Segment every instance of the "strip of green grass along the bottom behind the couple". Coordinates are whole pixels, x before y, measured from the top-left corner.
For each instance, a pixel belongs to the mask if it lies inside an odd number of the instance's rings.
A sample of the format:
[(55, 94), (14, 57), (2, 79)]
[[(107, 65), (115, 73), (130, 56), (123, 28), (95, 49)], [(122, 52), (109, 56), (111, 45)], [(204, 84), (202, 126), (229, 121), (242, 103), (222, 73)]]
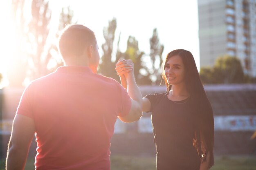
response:
[[(155, 157), (112, 155), (111, 170), (155, 170)], [(4, 170), (4, 160), (0, 161)], [(28, 159), (25, 170), (34, 170), (34, 160)], [(217, 156), (211, 170), (256, 170), (256, 156)]]

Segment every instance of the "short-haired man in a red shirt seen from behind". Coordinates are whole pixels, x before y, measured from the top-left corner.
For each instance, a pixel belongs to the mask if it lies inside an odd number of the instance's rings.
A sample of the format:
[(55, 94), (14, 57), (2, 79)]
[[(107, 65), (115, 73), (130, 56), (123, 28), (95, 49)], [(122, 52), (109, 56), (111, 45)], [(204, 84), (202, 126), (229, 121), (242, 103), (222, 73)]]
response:
[(96, 73), (99, 48), (87, 27), (67, 26), (58, 47), (65, 66), (31, 82), (22, 94), (6, 169), (24, 169), (36, 134), (36, 170), (110, 170), (115, 121), (141, 117), (141, 93), (132, 87), (135, 82), (129, 82), (128, 94), (114, 79)]

